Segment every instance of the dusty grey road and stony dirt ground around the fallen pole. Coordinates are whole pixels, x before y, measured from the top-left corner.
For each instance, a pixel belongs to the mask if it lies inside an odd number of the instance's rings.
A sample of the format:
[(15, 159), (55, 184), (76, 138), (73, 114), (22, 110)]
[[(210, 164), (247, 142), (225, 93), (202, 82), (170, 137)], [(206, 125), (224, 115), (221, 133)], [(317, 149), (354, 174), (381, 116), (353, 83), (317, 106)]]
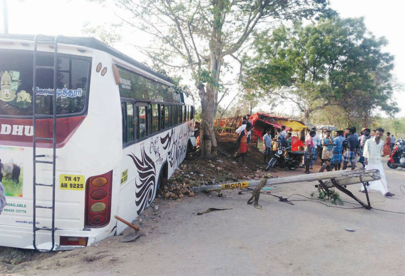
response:
[[(205, 172), (213, 170), (223, 175), (225, 172), (221, 170), (225, 170), (226, 174), (232, 174), (230, 178), (264, 174), (255, 166), (244, 168), (234, 163), (232, 170), (225, 167), (231, 164), (223, 165), (225, 158), (222, 159), (222, 162), (208, 161)], [(195, 170), (193, 166), (197, 166), (194, 162), (187, 161), (186, 167), (175, 176), (178, 179), (172, 180), (168, 188), (178, 184), (174, 181), (180, 182), (181, 175), (189, 176)], [(216, 170), (219, 166), (221, 169)], [(314, 169), (317, 168), (319, 163)], [(389, 189), (396, 196), (386, 199), (373, 191), (371, 204), (378, 209), (404, 212), (405, 195), (400, 185), (404, 184), (405, 172), (388, 168), (385, 172)], [(193, 175), (200, 174), (204, 172)], [(293, 172), (277, 169), (271, 174), (279, 177), (303, 174), (303, 169)], [(195, 181), (204, 184), (209, 181), (205, 176)], [(226, 190), (222, 197), (210, 192), (195, 197), (157, 199), (134, 222), (146, 234), (136, 241), (119, 242), (122, 236), (115, 236), (84, 249), (51, 254), (0, 247), (0, 254), (8, 256), (0, 262), (0, 274), (402, 275), (405, 215), (358, 208), (344, 194), (341, 199), (347, 202), (343, 206), (302, 197), (310, 197), (311, 192), (317, 191), (314, 184), (272, 186), (272, 195), (289, 197), (293, 205), (261, 195), (263, 210), (246, 204), (251, 195), (248, 191), (239, 195), (238, 190)], [(349, 189), (365, 201), (358, 185)], [(197, 215), (210, 207), (232, 209)], [(123, 235), (133, 231), (126, 229)]]

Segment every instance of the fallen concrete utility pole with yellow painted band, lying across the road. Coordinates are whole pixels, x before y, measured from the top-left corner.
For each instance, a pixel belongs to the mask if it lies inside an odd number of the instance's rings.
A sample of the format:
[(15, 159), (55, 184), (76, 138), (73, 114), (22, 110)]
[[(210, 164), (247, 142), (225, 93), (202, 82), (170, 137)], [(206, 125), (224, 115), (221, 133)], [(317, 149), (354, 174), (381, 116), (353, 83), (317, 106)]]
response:
[[(278, 178), (269, 178), (266, 181), (265, 185), (277, 185), (277, 184), (287, 184), (287, 183), (297, 183), (297, 182), (311, 182), (316, 180), (324, 180), (324, 179), (342, 179), (342, 178), (353, 178), (357, 179), (347, 181), (348, 182), (355, 182), (350, 184), (362, 183), (367, 182), (370, 180), (367, 177), (372, 175), (372, 180), (378, 180), (381, 178), (379, 175), (378, 170), (344, 170), (344, 171), (333, 171), (333, 172), (325, 172), (325, 173), (314, 173), (314, 174), (303, 174), (303, 175), (295, 175), (295, 176), (287, 176), (287, 177), (278, 177)], [(363, 180), (363, 181), (362, 181)], [(192, 191), (209, 191), (209, 190), (222, 190), (222, 189), (235, 189), (235, 188), (246, 188), (246, 187), (254, 187), (260, 184), (261, 180), (245, 180), (241, 182), (232, 182), (232, 183), (225, 183), (225, 184), (214, 184), (214, 185), (207, 185), (207, 186), (199, 186), (191, 188)], [(345, 180), (346, 181), (346, 180)], [(333, 184), (332, 184), (333, 185)], [(342, 184), (342, 185), (349, 185), (349, 184)]]

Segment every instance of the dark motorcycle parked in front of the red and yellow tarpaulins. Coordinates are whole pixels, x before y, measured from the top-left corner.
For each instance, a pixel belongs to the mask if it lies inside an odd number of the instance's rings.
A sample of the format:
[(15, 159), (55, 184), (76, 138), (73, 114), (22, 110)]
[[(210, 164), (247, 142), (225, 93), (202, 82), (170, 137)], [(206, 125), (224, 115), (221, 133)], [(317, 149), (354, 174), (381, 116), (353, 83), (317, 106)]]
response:
[(302, 156), (305, 154), (305, 151), (287, 151), (287, 156), (284, 157), (285, 152), (286, 148), (280, 147), (267, 163), (266, 171), (274, 168), (276, 165), (280, 168), (287, 167), (290, 170), (297, 169), (302, 162)]

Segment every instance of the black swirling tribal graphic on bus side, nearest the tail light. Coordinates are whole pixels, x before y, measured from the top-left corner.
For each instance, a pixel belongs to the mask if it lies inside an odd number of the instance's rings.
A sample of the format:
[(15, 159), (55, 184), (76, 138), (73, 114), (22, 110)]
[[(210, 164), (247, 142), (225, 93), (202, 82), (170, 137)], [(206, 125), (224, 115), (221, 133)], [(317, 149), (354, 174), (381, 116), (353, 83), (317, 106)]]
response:
[(134, 161), (139, 174), (135, 179), (135, 203), (139, 207), (137, 210), (139, 215), (154, 199), (156, 168), (154, 161), (146, 154), (144, 147), (141, 150), (141, 159), (136, 157), (134, 153), (128, 154), (128, 156)]

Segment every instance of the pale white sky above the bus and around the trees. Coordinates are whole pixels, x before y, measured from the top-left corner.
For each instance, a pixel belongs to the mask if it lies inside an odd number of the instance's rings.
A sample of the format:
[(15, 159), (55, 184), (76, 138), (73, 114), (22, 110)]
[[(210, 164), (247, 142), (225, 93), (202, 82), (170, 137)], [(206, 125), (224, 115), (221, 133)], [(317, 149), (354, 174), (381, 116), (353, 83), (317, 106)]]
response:
[[(3, 0), (0, 0), (3, 2)], [(83, 36), (86, 23), (102, 25), (120, 23), (113, 8), (103, 8), (97, 3), (86, 0), (7, 0), (8, 25), (10, 34), (47, 34)], [(389, 45), (386, 51), (395, 56), (394, 75), (405, 84), (405, 1), (402, 0), (331, 0), (331, 7), (341, 17), (364, 17), (365, 24), (376, 37), (385, 36)], [(0, 32), (4, 28), (3, 5), (0, 4)], [(118, 50), (142, 62), (145, 57), (140, 55), (129, 43), (131, 38), (142, 37), (123, 29), (122, 42), (114, 45)], [(402, 110), (397, 117), (405, 116), (405, 93), (396, 91), (394, 94)], [(222, 105), (227, 105), (233, 95), (224, 98)], [(259, 106), (261, 108), (263, 106)], [(275, 112), (297, 112), (296, 106), (290, 103), (281, 105)], [(297, 115), (297, 114), (295, 114)]]

